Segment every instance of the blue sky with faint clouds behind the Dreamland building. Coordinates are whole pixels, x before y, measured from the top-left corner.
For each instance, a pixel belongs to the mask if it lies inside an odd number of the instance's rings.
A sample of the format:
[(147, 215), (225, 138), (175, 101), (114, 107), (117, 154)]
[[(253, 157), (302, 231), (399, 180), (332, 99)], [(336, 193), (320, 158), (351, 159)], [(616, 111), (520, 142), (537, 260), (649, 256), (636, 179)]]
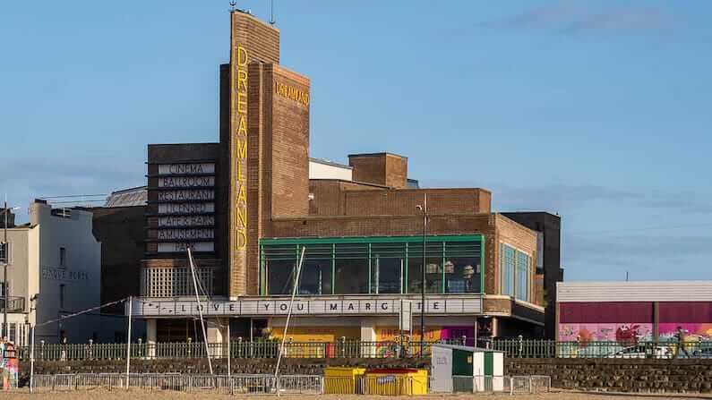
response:
[[(267, 0), (239, 1), (269, 19)], [(0, 193), (145, 184), (218, 141), (227, 1), (7, 2)], [(712, 2), (275, 0), (311, 156), (390, 151), (425, 187), (562, 217), (566, 280), (712, 279)]]

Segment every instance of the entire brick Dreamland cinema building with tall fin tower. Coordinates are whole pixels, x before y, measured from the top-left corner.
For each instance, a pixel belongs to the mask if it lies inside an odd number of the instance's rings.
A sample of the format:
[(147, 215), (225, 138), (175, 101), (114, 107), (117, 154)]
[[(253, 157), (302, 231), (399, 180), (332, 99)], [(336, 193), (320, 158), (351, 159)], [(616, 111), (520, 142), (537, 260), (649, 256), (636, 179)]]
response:
[(493, 213), (485, 189), (418, 188), (406, 157), (310, 159), (310, 81), (279, 64), (279, 30), (231, 13), (230, 55), (219, 142), (148, 148), (132, 311), (149, 342), (202, 337), (188, 248), (211, 342), (227, 339), (228, 324), (235, 340), (282, 335), (302, 249), (295, 341), (398, 336), (401, 304), (419, 320), (422, 268), (428, 339), (543, 331), (540, 234)]

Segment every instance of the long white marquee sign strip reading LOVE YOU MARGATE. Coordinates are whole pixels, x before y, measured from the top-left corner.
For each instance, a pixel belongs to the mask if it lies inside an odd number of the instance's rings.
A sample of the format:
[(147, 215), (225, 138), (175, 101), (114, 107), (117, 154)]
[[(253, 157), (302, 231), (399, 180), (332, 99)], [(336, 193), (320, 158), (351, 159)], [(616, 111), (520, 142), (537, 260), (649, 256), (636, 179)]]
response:
[[(421, 311), (419, 300), (411, 300), (413, 313)], [(426, 314), (478, 314), (482, 312), (481, 296), (434, 297), (426, 300)], [(398, 315), (400, 299), (379, 299), (365, 297), (360, 299), (308, 299), (295, 300), (292, 313), (295, 315)], [(245, 299), (235, 302), (201, 302), (204, 315), (230, 316), (279, 316), (287, 315), (289, 299)], [(198, 304), (191, 301), (142, 300), (133, 301), (133, 313), (136, 316), (187, 316), (198, 314)]]

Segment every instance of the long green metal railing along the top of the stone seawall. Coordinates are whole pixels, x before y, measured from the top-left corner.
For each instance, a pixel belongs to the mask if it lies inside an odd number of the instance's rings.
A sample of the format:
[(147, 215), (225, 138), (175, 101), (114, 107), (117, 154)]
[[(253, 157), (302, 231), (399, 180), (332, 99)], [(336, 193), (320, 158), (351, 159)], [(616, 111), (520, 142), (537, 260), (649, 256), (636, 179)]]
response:
[[(284, 356), (288, 358), (418, 358), (430, 357), (434, 343), (461, 345), (467, 340), (426, 342), (420, 353), (418, 342), (399, 343), (362, 342), (340, 340), (336, 342), (287, 342)], [(232, 342), (209, 344), (206, 350), (202, 343), (134, 343), (131, 345), (133, 359), (224, 359), (229, 353), (232, 359), (277, 358), (279, 342)], [(481, 344), (482, 345), (482, 344)], [(712, 358), (712, 341), (685, 343), (680, 347), (676, 342), (555, 342), (536, 339), (501, 339), (486, 343), (486, 346), (504, 352), (508, 358)], [(18, 357), (30, 359), (30, 346), (18, 346)], [(229, 351), (228, 351), (229, 349)], [(124, 360), (125, 344), (69, 344), (35, 345), (36, 360), (85, 361)]]

